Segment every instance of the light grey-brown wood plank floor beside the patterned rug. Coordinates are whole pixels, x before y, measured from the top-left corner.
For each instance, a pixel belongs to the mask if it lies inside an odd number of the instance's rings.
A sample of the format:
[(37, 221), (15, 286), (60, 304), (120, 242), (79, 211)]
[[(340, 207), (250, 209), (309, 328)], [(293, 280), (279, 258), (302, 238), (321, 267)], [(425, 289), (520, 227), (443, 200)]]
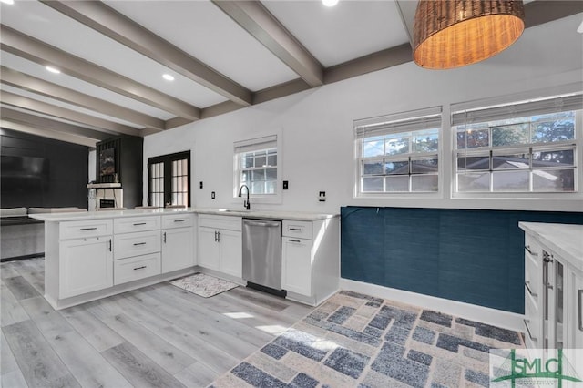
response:
[(238, 287), (168, 282), (55, 311), (44, 260), (0, 265), (3, 387), (203, 387), (312, 311)]

